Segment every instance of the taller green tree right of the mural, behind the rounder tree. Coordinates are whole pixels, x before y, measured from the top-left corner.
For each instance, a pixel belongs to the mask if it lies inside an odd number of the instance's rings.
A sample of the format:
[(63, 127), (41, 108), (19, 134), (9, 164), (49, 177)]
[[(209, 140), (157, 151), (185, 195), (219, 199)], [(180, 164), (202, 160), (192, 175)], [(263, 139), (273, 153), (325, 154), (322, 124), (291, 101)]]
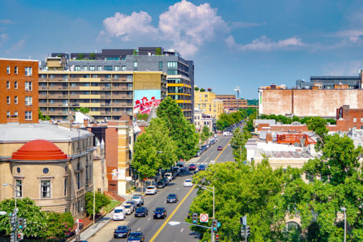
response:
[(177, 158), (188, 160), (197, 153), (198, 135), (195, 127), (184, 117), (182, 109), (169, 96), (161, 101), (156, 110), (157, 116), (164, 120), (171, 139), (175, 141)]

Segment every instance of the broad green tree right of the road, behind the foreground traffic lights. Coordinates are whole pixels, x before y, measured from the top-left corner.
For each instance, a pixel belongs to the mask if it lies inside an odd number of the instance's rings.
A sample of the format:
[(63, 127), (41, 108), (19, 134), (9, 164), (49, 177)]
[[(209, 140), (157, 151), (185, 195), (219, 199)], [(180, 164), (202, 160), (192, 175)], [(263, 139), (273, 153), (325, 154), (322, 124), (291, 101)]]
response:
[[(282, 184), (294, 176), (290, 170), (273, 170), (264, 159), (262, 163), (244, 165), (241, 162), (216, 163), (194, 175), (194, 183), (214, 186), (215, 213), (221, 223), (218, 230), (222, 241), (241, 241), (239, 218), (248, 213), (250, 241), (279, 241), (284, 228)], [(191, 213), (213, 213), (212, 193), (199, 189), (189, 210)], [(192, 222), (192, 218), (186, 219)], [(211, 219), (212, 220), (212, 219)], [(204, 226), (210, 226), (203, 224)], [(202, 241), (208, 241), (210, 230), (192, 226)]]

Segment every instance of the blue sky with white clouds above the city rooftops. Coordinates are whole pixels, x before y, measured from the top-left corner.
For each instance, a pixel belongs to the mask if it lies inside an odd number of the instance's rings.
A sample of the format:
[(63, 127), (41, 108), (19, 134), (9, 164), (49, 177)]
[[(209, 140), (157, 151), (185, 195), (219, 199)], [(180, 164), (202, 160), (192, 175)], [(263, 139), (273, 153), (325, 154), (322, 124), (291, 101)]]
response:
[(194, 60), (195, 84), (257, 98), (259, 86), (363, 69), (357, 1), (0, 0), (0, 57), (163, 46)]

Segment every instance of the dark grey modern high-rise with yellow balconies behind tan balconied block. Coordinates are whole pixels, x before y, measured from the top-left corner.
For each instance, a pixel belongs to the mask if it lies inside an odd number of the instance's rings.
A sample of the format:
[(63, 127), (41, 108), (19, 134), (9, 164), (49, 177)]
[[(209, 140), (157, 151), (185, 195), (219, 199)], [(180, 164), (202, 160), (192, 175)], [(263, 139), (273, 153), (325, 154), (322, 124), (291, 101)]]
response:
[[(167, 95), (182, 108), (192, 122), (194, 110), (194, 61), (187, 61), (172, 49), (139, 47), (138, 49), (102, 49), (101, 53), (53, 53), (65, 59), (70, 71), (161, 71), (166, 74)], [(48, 69), (46, 64), (43, 69)]]

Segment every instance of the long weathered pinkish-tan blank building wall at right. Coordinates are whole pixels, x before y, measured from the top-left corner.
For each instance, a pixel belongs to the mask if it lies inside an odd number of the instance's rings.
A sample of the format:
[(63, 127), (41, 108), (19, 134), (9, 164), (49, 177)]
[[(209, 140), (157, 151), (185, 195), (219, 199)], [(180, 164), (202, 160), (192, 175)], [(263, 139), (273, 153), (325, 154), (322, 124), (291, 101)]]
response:
[(362, 100), (363, 89), (259, 89), (259, 114), (334, 118), (342, 105), (363, 109)]

